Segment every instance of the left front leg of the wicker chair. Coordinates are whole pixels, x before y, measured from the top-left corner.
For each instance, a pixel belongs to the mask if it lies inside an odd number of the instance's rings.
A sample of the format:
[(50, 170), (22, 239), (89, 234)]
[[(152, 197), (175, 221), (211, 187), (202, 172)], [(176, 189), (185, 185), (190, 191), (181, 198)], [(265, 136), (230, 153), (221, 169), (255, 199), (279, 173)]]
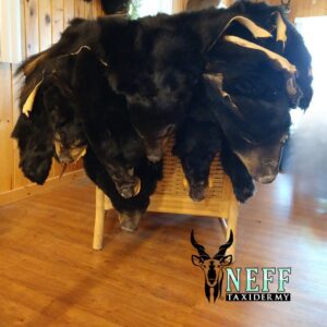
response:
[(93, 234), (93, 249), (101, 250), (104, 241), (105, 193), (96, 187), (96, 215)]

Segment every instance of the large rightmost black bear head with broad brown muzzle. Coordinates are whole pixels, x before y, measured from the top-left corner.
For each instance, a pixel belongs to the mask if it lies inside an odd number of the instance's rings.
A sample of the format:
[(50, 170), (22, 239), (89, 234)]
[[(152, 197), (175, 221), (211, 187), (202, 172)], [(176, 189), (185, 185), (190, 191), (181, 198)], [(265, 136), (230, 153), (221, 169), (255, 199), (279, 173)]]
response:
[(232, 150), (255, 179), (272, 181), (291, 123), (283, 74), (261, 52), (223, 43), (207, 69), (209, 75), (222, 74), (222, 88), (230, 96), (217, 97), (219, 92), (208, 81), (209, 108)]

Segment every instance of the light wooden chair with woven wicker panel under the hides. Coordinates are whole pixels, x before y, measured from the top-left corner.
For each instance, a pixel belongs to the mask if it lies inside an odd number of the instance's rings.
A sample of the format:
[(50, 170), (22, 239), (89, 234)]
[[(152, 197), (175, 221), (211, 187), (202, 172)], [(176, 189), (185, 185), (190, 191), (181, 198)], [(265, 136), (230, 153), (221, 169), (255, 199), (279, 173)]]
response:
[[(96, 187), (96, 215), (93, 249), (102, 249), (105, 211), (112, 206), (104, 192)], [(194, 203), (189, 197), (187, 183), (177, 157), (167, 152), (164, 165), (164, 179), (158, 182), (156, 193), (150, 198), (148, 211), (182, 215), (196, 215), (221, 218), (226, 230), (226, 239), (233, 231), (234, 242), (228, 254), (235, 253), (237, 221), (239, 203), (234, 197), (229, 177), (223, 172), (220, 161), (216, 158), (211, 165), (209, 190), (204, 201)]]

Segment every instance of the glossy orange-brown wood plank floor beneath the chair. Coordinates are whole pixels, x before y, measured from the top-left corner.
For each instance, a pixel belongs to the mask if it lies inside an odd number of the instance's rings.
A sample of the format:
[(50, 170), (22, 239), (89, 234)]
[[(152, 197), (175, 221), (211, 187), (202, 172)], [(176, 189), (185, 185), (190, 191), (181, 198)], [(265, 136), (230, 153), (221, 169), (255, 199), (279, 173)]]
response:
[(107, 217), (94, 252), (86, 179), (2, 206), (0, 326), (327, 326), (327, 193), (302, 189), (283, 174), (242, 206), (233, 265), (290, 266), (289, 303), (207, 302), (190, 232), (214, 254), (218, 219), (148, 214), (132, 234)]

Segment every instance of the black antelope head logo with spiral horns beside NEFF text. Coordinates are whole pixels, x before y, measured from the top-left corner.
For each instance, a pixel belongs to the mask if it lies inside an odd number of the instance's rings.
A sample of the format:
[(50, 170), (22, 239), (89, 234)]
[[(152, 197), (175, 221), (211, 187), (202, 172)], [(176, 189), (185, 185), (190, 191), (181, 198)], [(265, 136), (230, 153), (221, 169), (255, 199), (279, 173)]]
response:
[(226, 244), (220, 245), (218, 252), (210, 257), (205, 247), (198, 244), (194, 238), (194, 231), (191, 232), (191, 243), (197, 250), (198, 255), (192, 255), (194, 266), (202, 268), (205, 275), (205, 294), (210, 302), (211, 289), (214, 302), (221, 298), (223, 268), (232, 263), (232, 255), (226, 255), (226, 251), (233, 243), (233, 232), (230, 231), (229, 240)]

